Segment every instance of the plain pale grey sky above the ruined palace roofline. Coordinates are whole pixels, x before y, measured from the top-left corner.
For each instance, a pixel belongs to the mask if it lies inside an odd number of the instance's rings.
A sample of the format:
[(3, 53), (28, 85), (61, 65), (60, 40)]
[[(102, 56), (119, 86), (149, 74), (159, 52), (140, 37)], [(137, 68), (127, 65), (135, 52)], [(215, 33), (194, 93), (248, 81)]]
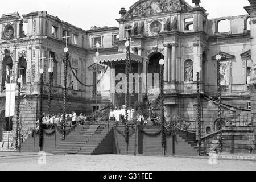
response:
[[(89, 30), (92, 25), (118, 26), (115, 19), (120, 17), (120, 8), (128, 10), (135, 2), (137, 0), (12, 0), (1, 1), (0, 14), (18, 11), (22, 15), (46, 10), (65, 22)], [(187, 2), (192, 4), (192, 0)], [(209, 13), (208, 18), (247, 14), (243, 6), (249, 5), (247, 0), (201, 0), (201, 6)]]

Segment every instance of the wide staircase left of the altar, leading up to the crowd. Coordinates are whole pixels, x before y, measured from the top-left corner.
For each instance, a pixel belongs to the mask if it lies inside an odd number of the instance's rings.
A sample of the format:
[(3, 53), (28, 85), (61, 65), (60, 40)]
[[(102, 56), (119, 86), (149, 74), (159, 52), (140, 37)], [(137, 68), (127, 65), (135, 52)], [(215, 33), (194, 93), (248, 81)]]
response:
[(112, 128), (105, 124), (77, 126), (67, 139), (56, 147), (52, 154), (100, 154), (100, 152), (94, 151), (112, 131)]

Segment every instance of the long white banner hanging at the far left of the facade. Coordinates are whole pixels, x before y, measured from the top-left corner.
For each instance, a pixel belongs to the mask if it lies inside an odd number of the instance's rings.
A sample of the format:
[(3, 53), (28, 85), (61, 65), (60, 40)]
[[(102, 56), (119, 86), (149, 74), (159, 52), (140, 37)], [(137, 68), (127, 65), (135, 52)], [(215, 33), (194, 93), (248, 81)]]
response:
[(15, 90), (16, 84), (6, 84), (5, 117), (15, 114)]

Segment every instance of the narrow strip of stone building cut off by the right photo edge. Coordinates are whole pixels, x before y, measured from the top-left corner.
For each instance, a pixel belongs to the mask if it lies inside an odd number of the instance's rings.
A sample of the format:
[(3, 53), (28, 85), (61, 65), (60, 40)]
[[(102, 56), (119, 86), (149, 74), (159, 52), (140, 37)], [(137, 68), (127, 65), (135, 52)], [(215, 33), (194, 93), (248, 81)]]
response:
[(251, 60), (253, 61), (253, 68), (251, 71), (251, 122), (256, 127), (256, 0), (249, 0), (250, 6), (244, 7), (251, 19)]

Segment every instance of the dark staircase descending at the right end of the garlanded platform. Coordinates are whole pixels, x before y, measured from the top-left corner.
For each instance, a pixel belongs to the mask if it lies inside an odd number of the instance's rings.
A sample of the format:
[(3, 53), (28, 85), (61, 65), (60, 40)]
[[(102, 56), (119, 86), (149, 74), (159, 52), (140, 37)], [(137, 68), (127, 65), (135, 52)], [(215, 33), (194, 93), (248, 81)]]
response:
[[(197, 156), (199, 155), (199, 146), (198, 144), (195, 142), (195, 136), (193, 136), (193, 134), (189, 134), (185, 131), (178, 131), (177, 135), (179, 135), (179, 137), (182, 138), (183, 144), (184, 146), (186, 146), (186, 148), (184, 148), (183, 151), (179, 151), (177, 152), (178, 155), (185, 155), (185, 156)], [(200, 156), (207, 156), (207, 151), (205, 150), (205, 148), (201, 148), (201, 155)]]

